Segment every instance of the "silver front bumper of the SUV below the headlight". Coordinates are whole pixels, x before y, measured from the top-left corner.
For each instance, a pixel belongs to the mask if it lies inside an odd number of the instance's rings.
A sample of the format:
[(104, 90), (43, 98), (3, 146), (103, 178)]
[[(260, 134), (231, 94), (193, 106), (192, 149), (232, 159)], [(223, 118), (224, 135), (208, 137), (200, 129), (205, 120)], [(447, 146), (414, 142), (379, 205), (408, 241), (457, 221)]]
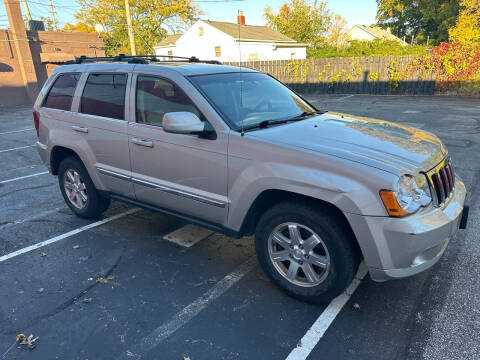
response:
[[(442, 207), (429, 207), (405, 218), (346, 214), (375, 281), (403, 278), (433, 266), (468, 216), (467, 192), (457, 177)], [(462, 220), (462, 214), (463, 220)]]

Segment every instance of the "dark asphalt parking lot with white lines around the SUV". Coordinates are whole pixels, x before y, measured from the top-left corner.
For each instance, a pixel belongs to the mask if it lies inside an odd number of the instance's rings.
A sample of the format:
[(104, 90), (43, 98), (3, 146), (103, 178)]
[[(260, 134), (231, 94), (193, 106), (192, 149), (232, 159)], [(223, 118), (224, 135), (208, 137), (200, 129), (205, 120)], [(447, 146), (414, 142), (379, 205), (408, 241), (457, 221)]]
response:
[[(386, 283), (367, 275), (338, 314), (299, 302), (267, 279), (251, 238), (208, 233), (186, 247), (164, 237), (188, 224), (120, 203), (98, 221), (75, 217), (40, 163), (31, 109), (4, 108), (0, 359), (478, 359), (480, 102), (306, 98), (444, 141), (472, 198), (437, 265)], [(18, 347), (19, 333), (38, 336), (35, 349)]]

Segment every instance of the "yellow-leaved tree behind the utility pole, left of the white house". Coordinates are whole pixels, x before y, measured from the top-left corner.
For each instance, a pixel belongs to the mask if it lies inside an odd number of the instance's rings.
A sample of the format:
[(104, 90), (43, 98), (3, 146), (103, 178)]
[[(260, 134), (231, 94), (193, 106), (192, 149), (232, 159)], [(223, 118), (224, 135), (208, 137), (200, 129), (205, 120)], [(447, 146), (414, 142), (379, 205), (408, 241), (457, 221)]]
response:
[[(169, 24), (181, 19), (193, 21), (200, 10), (193, 0), (129, 0), (135, 46), (139, 54), (152, 54), (153, 46), (167, 35)], [(78, 0), (75, 18), (89, 26), (105, 29), (107, 55), (129, 54), (125, 0)]]

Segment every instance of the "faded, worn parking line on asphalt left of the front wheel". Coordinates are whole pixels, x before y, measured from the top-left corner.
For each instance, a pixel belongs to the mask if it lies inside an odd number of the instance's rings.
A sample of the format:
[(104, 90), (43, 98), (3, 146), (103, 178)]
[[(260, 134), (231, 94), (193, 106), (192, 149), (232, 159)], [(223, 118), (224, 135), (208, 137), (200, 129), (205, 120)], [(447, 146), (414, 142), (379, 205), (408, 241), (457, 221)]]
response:
[(141, 356), (141, 354), (144, 354), (159, 345), (163, 340), (168, 338), (175, 331), (197, 316), (212, 301), (216, 300), (234, 284), (240, 281), (255, 267), (256, 264), (257, 262), (254, 258), (242, 263), (233, 272), (220, 280), (213, 288), (197, 298), (190, 305), (183, 308), (182, 311), (178, 312), (173, 318), (170, 319), (170, 321), (159, 326), (152, 333), (150, 333), (150, 335), (144, 337), (140, 343), (133, 348), (132, 351), (128, 350), (126, 356), (123, 358), (131, 358), (132, 356), (139, 358), (138, 356)]

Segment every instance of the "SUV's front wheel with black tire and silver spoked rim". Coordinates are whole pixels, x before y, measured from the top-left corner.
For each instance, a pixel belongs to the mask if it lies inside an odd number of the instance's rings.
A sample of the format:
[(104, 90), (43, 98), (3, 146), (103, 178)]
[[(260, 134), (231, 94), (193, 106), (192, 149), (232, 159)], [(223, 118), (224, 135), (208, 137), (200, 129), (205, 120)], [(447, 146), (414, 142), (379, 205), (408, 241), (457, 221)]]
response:
[[(359, 266), (353, 233), (328, 210), (309, 201), (283, 202), (267, 210), (256, 227), (255, 249), (263, 270), (302, 301), (330, 302), (350, 284)], [(295, 240), (295, 234), (303, 240)]]

